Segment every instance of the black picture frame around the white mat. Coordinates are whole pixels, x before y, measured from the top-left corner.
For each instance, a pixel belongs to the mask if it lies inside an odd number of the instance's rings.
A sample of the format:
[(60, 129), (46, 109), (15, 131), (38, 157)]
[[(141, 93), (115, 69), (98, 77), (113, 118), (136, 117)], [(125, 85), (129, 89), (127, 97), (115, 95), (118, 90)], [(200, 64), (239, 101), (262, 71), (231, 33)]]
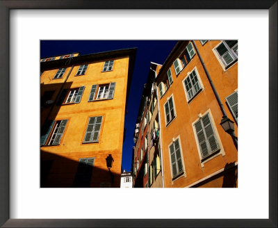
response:
[[(269, 219), (10, 219), (9, 15), (12, 9), (266, 9), (269, 12)], [(0, 225), (2, 227), (277, 227), (277, 0), (0, 0)], [(258, 180), (259, 184), (259, 180)], [(256, 183), (254, 183), (256, 188)], [(254, 199), (256, 200), (256, 199)], [(131, 208), (129, 208), (131, 209)]]

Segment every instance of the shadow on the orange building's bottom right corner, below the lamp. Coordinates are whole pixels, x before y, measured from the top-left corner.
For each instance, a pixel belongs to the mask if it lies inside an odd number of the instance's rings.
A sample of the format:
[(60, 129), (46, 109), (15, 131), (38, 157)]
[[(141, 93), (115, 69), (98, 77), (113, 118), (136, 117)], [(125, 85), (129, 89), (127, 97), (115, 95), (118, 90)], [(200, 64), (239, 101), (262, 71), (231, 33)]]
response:
[(215, 176), (202, 181), (191, 188), (237, 188), (238, 165), (236, 162), (227, 163), (224, 170)]

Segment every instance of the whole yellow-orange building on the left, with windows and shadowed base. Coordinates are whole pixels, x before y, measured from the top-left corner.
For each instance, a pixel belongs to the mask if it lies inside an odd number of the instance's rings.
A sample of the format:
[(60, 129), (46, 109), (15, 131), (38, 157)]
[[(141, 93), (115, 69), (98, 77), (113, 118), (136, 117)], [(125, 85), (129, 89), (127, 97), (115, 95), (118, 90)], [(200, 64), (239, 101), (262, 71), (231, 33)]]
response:
[(122, 49), (41, 60), (41, 187), (120, 187), (135, 55)]

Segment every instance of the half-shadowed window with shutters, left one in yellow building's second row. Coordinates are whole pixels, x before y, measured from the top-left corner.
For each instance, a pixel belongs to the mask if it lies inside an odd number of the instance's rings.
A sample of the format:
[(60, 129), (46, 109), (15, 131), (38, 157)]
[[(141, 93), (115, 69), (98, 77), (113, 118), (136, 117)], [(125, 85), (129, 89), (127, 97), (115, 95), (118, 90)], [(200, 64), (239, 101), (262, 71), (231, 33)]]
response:
[(85, 86), (64, 89), (58, 99), (57, 105), (80, 103), (84, 90)]

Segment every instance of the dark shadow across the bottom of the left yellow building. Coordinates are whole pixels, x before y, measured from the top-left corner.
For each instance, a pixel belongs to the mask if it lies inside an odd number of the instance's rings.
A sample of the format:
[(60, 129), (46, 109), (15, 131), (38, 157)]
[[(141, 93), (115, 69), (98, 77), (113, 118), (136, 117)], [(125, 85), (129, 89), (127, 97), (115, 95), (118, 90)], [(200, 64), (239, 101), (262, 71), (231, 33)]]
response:
[(120, 175), (40, 150), (41, 188), (120, 188)]

